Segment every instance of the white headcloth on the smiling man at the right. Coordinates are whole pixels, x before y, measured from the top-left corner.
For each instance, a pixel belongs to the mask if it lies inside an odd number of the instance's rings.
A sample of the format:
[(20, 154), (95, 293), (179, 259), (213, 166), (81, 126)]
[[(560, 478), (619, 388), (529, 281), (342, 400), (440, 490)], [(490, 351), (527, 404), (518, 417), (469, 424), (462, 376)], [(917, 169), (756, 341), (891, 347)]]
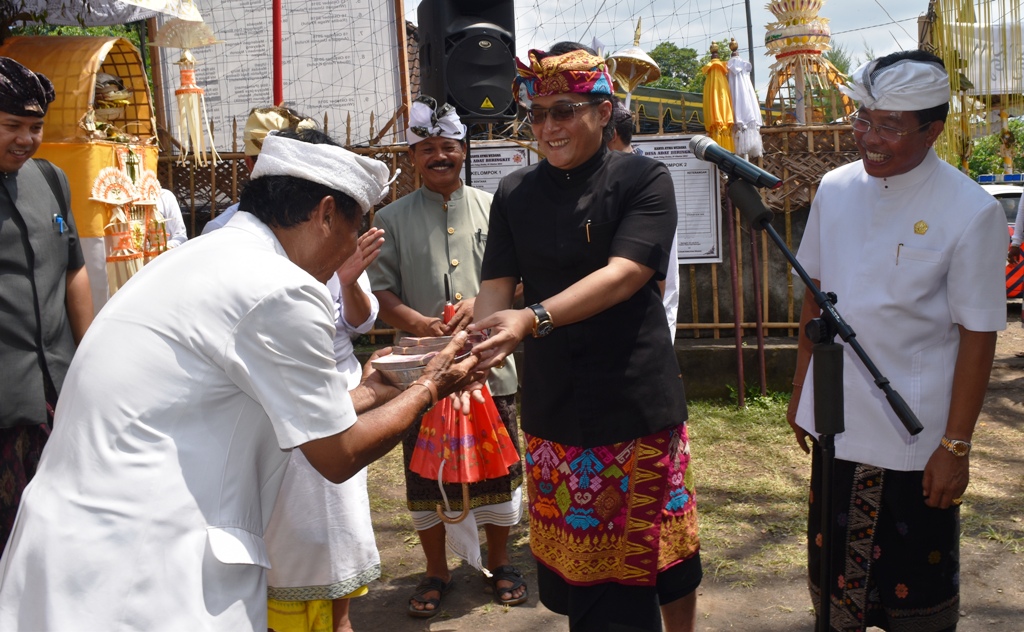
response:
[(839, 89), (868, 110), (916, 112), (949, 102), (949, 75), (940, 65), (900, 59), (878, 71), (876, 66), (878, 60), (864, 64)]

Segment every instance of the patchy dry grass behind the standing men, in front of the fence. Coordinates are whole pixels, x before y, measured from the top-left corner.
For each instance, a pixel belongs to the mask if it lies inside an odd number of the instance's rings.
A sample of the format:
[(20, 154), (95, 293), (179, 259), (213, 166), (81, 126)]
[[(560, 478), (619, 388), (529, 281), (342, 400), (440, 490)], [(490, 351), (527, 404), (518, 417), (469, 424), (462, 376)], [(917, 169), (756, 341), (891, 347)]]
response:
[[(770, 585), (806, 573), (807, 487), (810, 456), (785, 422), (787, 393), (733, 402), (689, 403), (690, 471), (700, 520), (708, 579), (737, 587)], [(971, 487), (962, 508), (962, 547), (1024, 553), (1020, 501), (1024, 475), (1017, 447), (1024, 422), (979, 424)], [(378, 530), (401, 542), (403, 558), (419, 560), (419, 541), (404, 508), (401, 451), (370, 469), (371, 506)], [(528, 559), (528, 526), (514, 528), (510, 544)], [(378, 544), (384, 545), (383, 534)], [(383, 552), (383, 551), (382, 551)], [(415, 564), (414, 564), (415, 565)]]

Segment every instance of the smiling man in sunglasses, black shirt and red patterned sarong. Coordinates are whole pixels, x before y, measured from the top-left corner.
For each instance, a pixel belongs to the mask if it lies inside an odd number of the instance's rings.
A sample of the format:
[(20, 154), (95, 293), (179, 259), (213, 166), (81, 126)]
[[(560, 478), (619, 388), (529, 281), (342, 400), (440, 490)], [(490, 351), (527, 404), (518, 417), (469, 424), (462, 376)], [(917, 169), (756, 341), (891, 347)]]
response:
[[(571, 42), (530, 50), (515, 89), (545, 160), (490, 207), (478, 323), (495, 366), (525, 342), (530, 549), (574, 631), (692, 630), (700, 583), (686, 399), (657, 282), (674, 264), (672, 177), (607, 146), (611, 77)], [(522, 282), (525, 309), (510, 309)]]

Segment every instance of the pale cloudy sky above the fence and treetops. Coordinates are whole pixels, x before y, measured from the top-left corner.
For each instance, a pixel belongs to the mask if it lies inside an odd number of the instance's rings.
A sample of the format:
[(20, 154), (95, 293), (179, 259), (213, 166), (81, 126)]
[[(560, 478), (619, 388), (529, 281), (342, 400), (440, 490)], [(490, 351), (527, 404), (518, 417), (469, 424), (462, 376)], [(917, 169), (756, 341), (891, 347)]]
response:
[[(765, 55), (767, 26), (776, 20), (765, 0), (749, 0), (754, 42), (754, 80), (765, 95), (774, 57)], [(406, 18), (417, 24), (420, 0), (406, 0)], [(637, 17), (642, 18), (640, 48), (660, 42), (708, 51), (713, 41), (733, 37), (739, 54), (750, 58), (746, 5), (742, 0), (515, 0), (516, 54), (547, 48), (560, 40), (591, 44), (597, 37), (607, 51), (633, 45)], [(828, 18), (833, 45), (841, 46), (854, 70), (867, 59), (918, 47), (918, 17), (928, 0), (826, 0), (819, 17)], [(726, 51), (728, 53), (728, 51)]]

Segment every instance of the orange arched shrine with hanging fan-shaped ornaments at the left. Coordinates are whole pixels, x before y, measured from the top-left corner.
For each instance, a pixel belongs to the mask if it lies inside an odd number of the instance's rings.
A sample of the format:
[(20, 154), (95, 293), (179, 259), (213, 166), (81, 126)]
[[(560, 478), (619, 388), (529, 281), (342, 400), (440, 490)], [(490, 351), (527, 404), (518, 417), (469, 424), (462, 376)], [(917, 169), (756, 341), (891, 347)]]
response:
[[(105, 244), (114, 294), (167, 248), (157, 207), (157, 124), (142, 57), (115, 37), (10, 37), (0, 55), (53, 82), (55, 99), (36, 153), (60, 167), (71, 186), (79, 237)], [(94, 255), (86, 249), (88, 258)], [(103, 256), (99, 255), (99, 256)]]

